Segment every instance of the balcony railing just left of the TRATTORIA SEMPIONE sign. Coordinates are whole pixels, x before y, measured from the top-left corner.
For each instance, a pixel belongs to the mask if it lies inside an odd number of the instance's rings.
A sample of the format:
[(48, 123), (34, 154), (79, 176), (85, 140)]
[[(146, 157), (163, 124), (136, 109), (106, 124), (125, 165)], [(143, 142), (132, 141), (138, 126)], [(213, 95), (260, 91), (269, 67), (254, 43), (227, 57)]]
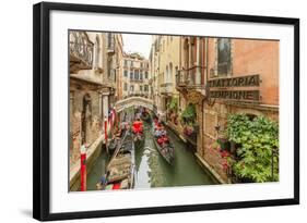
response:
[(177, 88), (204, 88), (201, 72), (197, 66), (189, 70), (178, 71), (176, 74)]

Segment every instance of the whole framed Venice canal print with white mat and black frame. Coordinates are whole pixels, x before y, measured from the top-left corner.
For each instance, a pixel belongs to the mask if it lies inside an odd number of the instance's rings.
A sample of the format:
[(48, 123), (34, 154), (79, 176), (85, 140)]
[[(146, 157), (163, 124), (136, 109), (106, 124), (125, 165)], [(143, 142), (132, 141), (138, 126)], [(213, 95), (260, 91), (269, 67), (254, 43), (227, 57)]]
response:
[(299, 20), (34, 5), (37, 220), (299, 203)]

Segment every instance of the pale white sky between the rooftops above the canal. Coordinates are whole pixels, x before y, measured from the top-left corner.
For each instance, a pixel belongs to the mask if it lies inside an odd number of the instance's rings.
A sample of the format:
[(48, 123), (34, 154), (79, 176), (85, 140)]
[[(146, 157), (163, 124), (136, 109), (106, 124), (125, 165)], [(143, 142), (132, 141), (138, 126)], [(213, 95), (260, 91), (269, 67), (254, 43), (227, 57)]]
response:
[(122, 34), (122, 39), (125, 52), (139, 52), (149, 59), (152, 45), (151, 35)]

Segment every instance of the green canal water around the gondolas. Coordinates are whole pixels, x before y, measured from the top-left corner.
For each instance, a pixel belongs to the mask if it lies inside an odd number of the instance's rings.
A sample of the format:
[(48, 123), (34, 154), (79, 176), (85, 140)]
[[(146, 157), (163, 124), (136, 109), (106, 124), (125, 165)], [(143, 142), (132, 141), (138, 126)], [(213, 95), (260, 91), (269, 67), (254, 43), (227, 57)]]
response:
[[(135, 150), (134, 188), (212, 185), (216, 181), (203, 170), (187, 145), (172, 131), (167, 131), (175, 148), (175, 163), (169, 165), (153, 143), (151, 126), (144, 123), (145, 144)], [(95, 190), (96, 183), (105, 173), (107, 156), (103, 151), (87, 176), (87, 190)]]

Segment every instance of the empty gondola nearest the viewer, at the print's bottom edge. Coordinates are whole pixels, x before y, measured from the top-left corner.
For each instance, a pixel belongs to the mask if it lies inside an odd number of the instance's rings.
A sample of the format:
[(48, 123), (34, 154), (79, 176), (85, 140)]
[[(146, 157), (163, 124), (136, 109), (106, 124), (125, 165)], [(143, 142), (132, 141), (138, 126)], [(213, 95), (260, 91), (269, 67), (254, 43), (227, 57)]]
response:
[(106, 174), (97, 183), (97, 189), (132, 189), (134, 187), (134, 144), (131, 133), (127, 133), (110, 159)]

